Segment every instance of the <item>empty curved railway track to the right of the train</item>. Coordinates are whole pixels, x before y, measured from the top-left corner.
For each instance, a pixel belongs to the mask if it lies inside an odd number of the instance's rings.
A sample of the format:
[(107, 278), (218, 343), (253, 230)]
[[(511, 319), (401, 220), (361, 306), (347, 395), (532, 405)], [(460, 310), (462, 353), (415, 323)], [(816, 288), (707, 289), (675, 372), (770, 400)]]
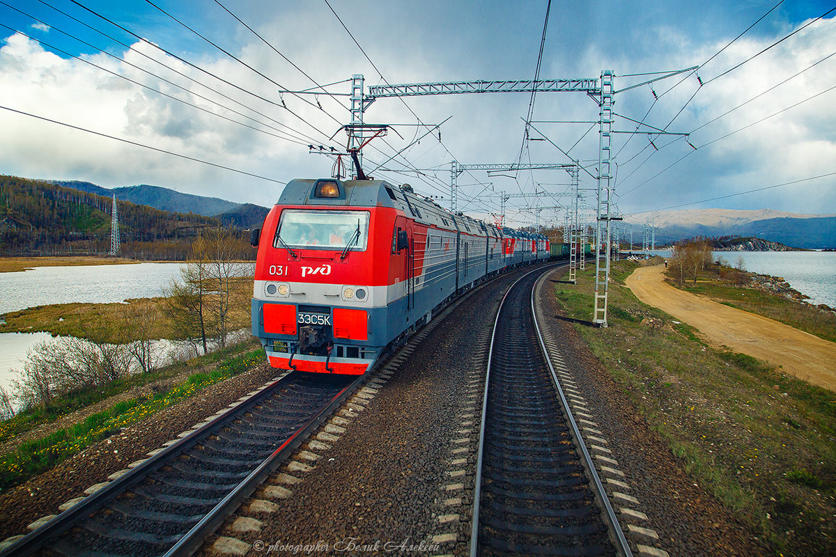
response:
[(548, 358), (523, 276), (502, 301), (482, 402), (471, 555), (626, 555)]

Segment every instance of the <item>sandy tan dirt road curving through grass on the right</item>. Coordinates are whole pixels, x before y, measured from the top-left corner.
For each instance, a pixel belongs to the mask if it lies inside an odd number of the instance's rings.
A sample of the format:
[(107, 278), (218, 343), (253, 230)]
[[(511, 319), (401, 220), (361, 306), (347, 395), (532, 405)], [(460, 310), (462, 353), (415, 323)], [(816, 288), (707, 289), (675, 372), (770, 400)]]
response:
[(625, 282), (645, 304), (696, 327), (712, 344), (766, 360), (784, 372), (836, 391), (836, 342), (677, 290), (663, 280), (664, 271), (661, 265), (639, 267)]

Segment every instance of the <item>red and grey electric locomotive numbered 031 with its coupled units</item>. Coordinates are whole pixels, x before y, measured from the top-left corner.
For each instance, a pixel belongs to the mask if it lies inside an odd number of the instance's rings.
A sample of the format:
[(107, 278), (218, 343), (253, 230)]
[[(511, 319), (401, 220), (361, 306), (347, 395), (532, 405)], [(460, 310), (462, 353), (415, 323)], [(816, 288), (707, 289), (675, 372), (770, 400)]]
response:
[(253, 230), (252, 334), (273, 367), (358, 375), (451, 296), (547, 258), (544, 235), (451, 215), (409, 185), (292, 180)]

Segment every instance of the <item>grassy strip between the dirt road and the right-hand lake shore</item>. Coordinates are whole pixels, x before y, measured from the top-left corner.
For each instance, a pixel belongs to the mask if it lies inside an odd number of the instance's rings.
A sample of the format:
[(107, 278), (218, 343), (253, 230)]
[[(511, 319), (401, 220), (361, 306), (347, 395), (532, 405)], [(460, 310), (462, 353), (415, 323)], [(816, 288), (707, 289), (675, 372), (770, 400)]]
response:
[[(734, 286), (720, 278), (718, 269), (703, 273), (701, 279), (693, 286), (686, 282), (684, 286), (677, 286), (674, 281), (669, 281), (672, 286), (681, 290), (699, 294), (711, 298), (726, 306), (736, 307), (739, 310), (757, 313), (777, 322), (782, 322), (790, 327), (809, 332), (811, 335), (823, 338), (824, 340), (836, 342), (836, 313), (823, 311), (816, 306), (805, 302), (789, 300), (773, 292), (762, 291), (757, 288), (746, 286)], [(750, 276), (752, 273), (736, 271)]]

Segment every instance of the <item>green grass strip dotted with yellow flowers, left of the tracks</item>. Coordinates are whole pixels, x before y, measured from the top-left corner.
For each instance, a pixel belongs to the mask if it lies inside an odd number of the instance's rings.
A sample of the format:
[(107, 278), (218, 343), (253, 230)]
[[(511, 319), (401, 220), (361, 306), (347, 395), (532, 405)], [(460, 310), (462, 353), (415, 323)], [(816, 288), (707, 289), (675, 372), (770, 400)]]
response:
[[(217, 354), (210, 355), (218, 357)], [(208, 358), (208, 357), (207, 357)], [(211, 358), (210, 358), (211, 359)], [(17, 450), (0, 457), (0, 492), (23, 484), (34, 475), (43, 473), (79, 453), (91, 444), (117, 433), (132, 423), (192, 397), (210, 385), (244, 372), (264, 362), (261, 349), (237, 353), (230, 349), (220, 365), (212, 372), (199, 372), (166, 392), (153, 397), (116, 403), (104, 412), (95, 413), (71, 428), (60, 429), (50, 435), (21, 444)], [(194, 365), (196, 362), (192, 362)], [(206, 363), (206, 362), (201, 362)]]

